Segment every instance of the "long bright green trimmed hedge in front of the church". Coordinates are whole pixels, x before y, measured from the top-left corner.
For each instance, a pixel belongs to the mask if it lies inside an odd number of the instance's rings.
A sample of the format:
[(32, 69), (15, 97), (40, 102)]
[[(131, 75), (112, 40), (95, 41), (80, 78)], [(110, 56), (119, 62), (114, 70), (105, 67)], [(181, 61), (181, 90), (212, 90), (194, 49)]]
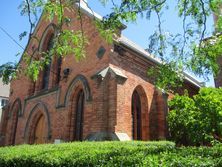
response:
[(174, 146), (171, 142), (75, 142), (5, 147), (0, 148), (0, 166), (140, 166), (145, 155)]

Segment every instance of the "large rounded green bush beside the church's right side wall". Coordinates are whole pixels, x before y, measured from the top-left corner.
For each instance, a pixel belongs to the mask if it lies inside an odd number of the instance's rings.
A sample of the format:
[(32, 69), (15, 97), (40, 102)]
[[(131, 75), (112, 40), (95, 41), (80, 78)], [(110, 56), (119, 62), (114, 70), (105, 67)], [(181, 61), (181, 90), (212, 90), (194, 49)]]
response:
[(182, 145), (222, 142), (222, 88), (202, 88), (193, 98), (176, 95), (169, 102), (172, 139)]

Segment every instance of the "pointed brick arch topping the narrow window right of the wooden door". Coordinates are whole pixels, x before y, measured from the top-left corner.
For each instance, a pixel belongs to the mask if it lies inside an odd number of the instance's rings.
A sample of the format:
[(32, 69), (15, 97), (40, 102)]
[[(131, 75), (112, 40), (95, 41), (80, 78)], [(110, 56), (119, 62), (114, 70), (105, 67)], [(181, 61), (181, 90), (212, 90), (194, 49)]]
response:
[(76, 92), (77, 87), (82, 87), (84, 94), (85, 94), (85, 101), (91, 101), (92, 95), (89, 87), (89, 83), (84, 75), (77, 75), (72, 82), (69, 84), (68, 89), (65, 95), (65, 105), (67, 106), (72, 99), (73, 93)]

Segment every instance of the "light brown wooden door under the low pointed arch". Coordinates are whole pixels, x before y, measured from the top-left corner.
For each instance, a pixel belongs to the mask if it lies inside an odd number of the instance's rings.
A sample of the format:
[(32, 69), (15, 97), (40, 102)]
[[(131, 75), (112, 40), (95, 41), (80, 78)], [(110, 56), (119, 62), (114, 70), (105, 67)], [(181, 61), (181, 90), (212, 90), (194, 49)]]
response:
[(46, 142), (46, 126), (45, 126), (45, 118), (44, 116), (41, 116), (37, 122), (36, 128), (35, 128), (35, 144), (43, 144)]

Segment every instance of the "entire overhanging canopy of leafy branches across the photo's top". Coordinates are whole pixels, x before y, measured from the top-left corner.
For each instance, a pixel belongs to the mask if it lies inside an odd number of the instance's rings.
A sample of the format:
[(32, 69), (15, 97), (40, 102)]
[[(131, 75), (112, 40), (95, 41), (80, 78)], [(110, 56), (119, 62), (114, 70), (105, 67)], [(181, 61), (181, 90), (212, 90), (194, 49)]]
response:
[[(164, 14), (167, 13), (168, 9), (174, 7), (172, 1), (99, 0), (99, 2), (104, 6), (108, 2), (112, 4), (110, 14), (103, 17), (101, 21), (95, 19), (101, 36), (108, 42), (112, 42), (114, 34), (117, 34), (118, 28), (122, 25), (121, 22), (135, 22), (139, 16), (146, 17), (147, 20), (151, 17), (157, 18), (157, 29), (147, 40), (147, 46), (148, 51), (160, 58), (164, 63), (159, 65), (158, 68), (153, 67), (149, 74), (171, 73), (174, 75), (171, 79), (167, 79), (168, 75), (161, 76), (164, 78), (157, 78), (155, 83), (158, 87), (166, 91), (172, 89), (172, 87), (178, 85), (178, 81), (183, 79), (183, 72), (188, 70), (205, 78), (209, 74), (216, 75), (218, 73), (217, 59), (221, 55), (222, 37), (217, 32), (222, 30), (221, 0), (176, 0), (176, 12), (178, 13), (178, 18), (181, 18), (183, 26), (183, 33), (181, 34), (173, 34), (164, 30), (162, 26)], [(77, 4), (75, 8), (73, 4)], [(89, 5), (88, 7), (90, 8)], [(21, 33), (20, 38), (29, 35), (29, 41), (32, 39), (38, 40), (33, 34), (33, 30), (39, 13), (43, 13), (46, 19), (56, 20), (57, 27), (53, 49), (50, 54), (44, 53), (44, 55), (61, 57), (74, 55), (76, 60), (85, 57), (85, 46), (88, 41), (84, 35), (84, 30), (82, 28), (76, 32), (69, 30), (67, 27), (70, 26), (71, 18), (64, 14), (65, 11), (77, 12), (78, 19), (82, 25), (83, 20), (79, 0), (21, 0), (20, 10), (21, 15), (27, 16), (30, 23), (30, 31)], [(217, 18), (215, 35), (206, 39), (208, 35), (207, 20), (213, 14)], [(33, 53), (24, 51), (25, 69), (22, 69), (20, 65), (14, 64), (0, 66), (0, 74), (4, 76), (4, 82), (9, 82), (16, 74), (24, 71), (31, 79), (37, 80), (39, 70), (43, 70), (47, 64), (47, 58), (36, 58)]]

